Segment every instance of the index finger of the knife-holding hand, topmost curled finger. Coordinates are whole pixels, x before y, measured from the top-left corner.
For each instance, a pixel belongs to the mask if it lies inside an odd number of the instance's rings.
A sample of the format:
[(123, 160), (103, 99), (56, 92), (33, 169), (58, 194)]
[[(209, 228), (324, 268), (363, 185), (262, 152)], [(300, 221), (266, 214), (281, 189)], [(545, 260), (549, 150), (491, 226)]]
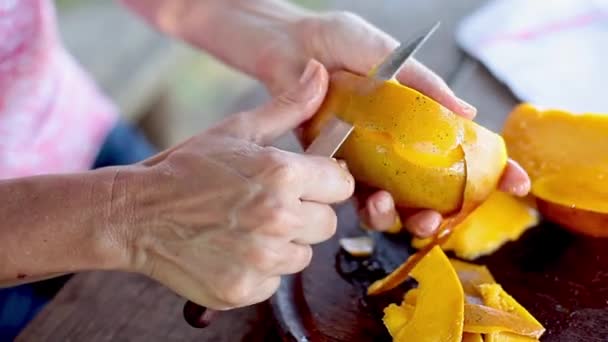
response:
[(271, 152), (270, 159), (274, 174), (265, 178), (276, 191), (290, 195), (295, 191), (302, 201), (325, 204), (345, 201), (354, 192), (353, 176), (335, 159), (287, 151)]

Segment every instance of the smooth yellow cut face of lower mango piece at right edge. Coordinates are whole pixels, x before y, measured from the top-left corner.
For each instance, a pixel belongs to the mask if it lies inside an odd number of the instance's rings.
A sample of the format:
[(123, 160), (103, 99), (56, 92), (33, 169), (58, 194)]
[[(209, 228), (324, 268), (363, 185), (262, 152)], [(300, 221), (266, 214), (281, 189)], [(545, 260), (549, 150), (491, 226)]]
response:
[(541, 176), (534, 182), (532, 194), (566, 207), (608, 214), (608, 172), (579, 170)]

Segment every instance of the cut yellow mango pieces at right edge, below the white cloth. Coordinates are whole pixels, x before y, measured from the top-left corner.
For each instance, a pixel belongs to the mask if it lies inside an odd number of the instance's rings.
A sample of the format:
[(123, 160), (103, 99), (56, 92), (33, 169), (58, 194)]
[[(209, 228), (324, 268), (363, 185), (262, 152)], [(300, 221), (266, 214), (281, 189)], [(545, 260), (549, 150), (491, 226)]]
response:
[(608, 114), (522, 104), (507, 118), (503, 137), (509, 156), (530, 175), (545, 218), (608, 237)]

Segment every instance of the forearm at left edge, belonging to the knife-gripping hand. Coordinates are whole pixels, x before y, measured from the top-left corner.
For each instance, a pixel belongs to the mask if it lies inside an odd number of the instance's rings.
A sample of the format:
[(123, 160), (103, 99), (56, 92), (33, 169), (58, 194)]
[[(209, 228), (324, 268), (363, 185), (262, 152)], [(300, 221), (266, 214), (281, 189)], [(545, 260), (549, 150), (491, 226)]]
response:
[(0, 181), (0, 283), (119, 268), (117, 170)]

